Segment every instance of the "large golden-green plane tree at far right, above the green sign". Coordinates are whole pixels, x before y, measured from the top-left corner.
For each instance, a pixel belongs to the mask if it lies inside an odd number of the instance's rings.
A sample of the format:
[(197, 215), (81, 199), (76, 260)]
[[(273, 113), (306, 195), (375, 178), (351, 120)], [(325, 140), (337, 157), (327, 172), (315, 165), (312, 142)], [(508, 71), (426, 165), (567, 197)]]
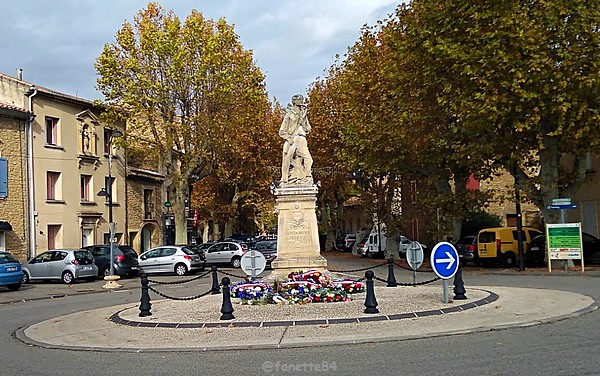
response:
[(453, 154), (443, 155), (510, 172), (557, 221), (546, 206), (581, 186), (600, 144), (600, 3), (415, 0), (391, 27), (416, 78), (416, 117), (452, 119)]

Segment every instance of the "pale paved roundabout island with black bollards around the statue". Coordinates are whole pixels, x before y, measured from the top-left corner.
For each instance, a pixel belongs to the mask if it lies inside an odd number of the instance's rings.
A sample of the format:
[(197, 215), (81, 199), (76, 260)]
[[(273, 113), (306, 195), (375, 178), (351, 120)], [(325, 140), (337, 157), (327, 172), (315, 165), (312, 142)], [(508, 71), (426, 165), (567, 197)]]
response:
[[(558, 290), (470, 287), (467, 300), (443, 302), (442, 287), (375, 287), (377, 314), (364, 294), (343, 303), (241, 305), (221, 321), (222, 297), (152, 301), (77, 312), (22, 328), (17, 338), (46, 348), (93, 351), (208, 351), (399, 341), (530, 326), (598, 308), (591, 297)], [(94, 323), (90, 325), (89, 323)]]

